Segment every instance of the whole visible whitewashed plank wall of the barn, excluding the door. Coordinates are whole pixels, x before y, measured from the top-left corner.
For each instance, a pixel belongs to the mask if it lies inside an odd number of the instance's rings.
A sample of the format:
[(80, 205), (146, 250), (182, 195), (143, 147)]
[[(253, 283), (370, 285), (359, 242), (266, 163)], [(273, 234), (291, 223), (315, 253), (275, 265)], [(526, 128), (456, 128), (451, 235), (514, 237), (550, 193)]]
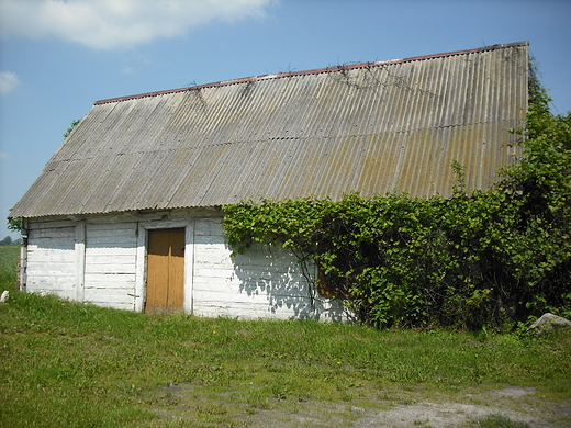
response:
[(30, 222), (26, 289), (142, 311), (146, 230), (187, 225), (187, 311), (209, 317), (344, 319), (336, 302), (310, 299), (296, 259), (282, 248), (258, 246), (231, 257), (221, 221), (219, 212), (180, 211), (167, 221), (150, 213)]

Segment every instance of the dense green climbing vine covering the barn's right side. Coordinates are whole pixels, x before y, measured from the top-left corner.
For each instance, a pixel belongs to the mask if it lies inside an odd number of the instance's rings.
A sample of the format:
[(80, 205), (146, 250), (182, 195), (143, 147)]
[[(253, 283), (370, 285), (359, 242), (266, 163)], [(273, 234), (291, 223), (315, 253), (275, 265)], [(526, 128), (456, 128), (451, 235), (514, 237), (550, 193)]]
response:
[(387, 194), (227, 205), (237, 251), (281, 245), (318, 266), (310, 286), (380, 327), (510, 328), (542, 312), (571, 315), (571, 116), (553, 116), (535, 78), (524, 159), (488, 191)]

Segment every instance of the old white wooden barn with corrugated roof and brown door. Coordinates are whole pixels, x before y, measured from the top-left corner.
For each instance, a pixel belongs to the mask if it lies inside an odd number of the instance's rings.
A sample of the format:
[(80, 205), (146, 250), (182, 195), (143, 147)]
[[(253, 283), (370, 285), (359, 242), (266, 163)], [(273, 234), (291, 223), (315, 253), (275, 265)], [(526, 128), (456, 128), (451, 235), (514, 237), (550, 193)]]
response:
[[(528, 44), (256, 76), (94, 103), (15, 205), (21, 288), (133, 311), (340, 320), (292, 257), (231, 257), (223, 206), (469, 189), (517, 161)], [(314, 304), (312, 304), (312, 302)]]

